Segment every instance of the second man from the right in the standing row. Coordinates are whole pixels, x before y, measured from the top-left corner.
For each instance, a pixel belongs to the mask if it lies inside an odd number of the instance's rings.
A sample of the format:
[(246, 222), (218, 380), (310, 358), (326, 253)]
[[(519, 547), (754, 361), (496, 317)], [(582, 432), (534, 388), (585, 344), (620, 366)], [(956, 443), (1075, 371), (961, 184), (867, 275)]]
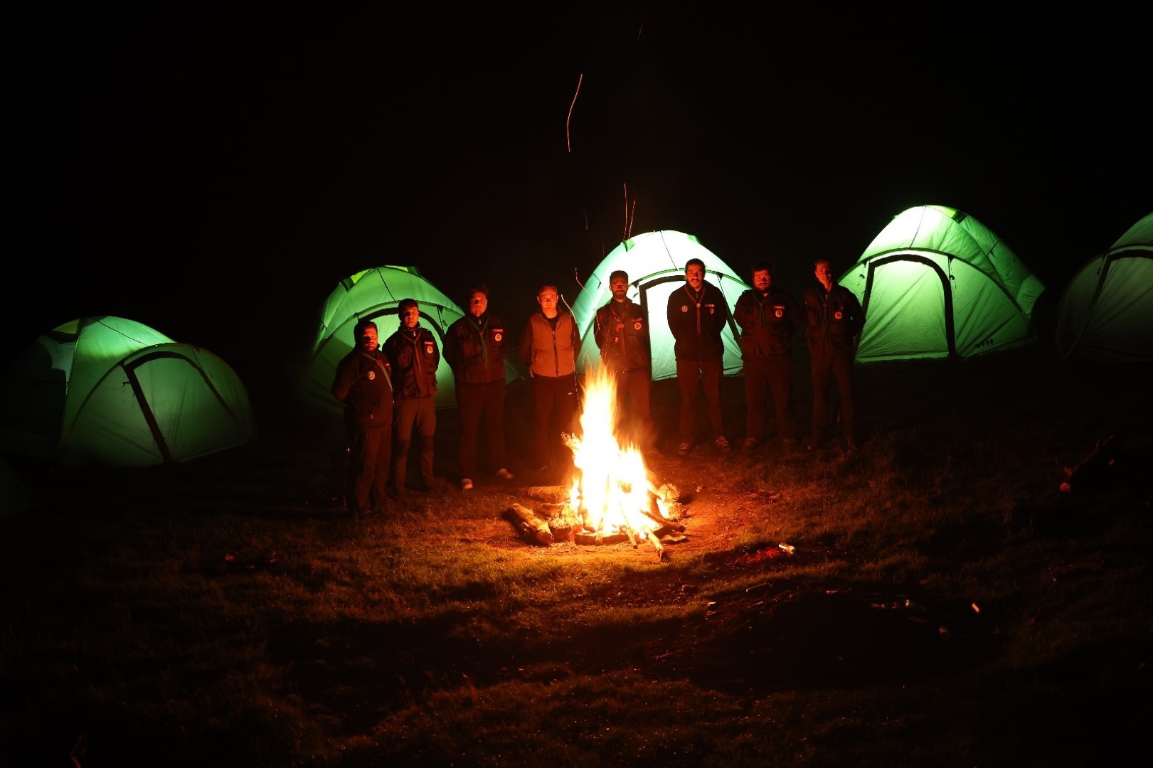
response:
[(740, 327), (740, 355), (745, 372), (744, 451), (764, 442), (764, 413), (773, 396), (777, 435), (785, 450), (797, 443), (793, 413), (791, 337), (801, 329), (804, 316), (792, 294), (773, 286), (773, 265), (753, 265), (753, 287), (740, 294), (732, 313)]

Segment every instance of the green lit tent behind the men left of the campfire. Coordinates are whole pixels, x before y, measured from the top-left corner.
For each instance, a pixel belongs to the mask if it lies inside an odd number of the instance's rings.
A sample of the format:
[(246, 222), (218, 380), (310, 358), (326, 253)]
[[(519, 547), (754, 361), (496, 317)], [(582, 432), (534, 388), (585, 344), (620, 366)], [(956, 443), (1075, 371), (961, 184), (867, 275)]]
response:
[[(436, 371), (438, 408), (457, 407), (457, 387), (452, 368), (444, 359), (444, 336), (455, 321), (465, 316), (454, 301), (429, 283), (415, 266), (377, 266), (345, 278), (329, 294), (321, 308), (316, 340), (301, 374), (299, 397), (303, 407), (316, 414), (340, 414), (344, 406), (332, 397), (332, 379), (337, 363), (353, 348), (353, 329), (361, 319), (377, 324), (380, 344), (399, 326), (397, 304), (401, 299), (415, 299), (420, 304), (421, 324), (437, 337), (440, 364)], [(515, 371), (505, 361), (506, 378)]]

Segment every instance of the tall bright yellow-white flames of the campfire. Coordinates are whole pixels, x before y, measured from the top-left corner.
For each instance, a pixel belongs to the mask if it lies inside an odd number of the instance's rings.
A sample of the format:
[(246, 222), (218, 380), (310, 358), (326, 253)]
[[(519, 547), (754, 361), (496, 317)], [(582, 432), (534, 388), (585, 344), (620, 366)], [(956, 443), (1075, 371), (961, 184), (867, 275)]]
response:
[(623, 444), (617, 435), (616, 385), (612, 374), (597, 366), (585, 377), (580, 424), (582, 436), (566, 436), (576, 476), (570, 506), (587, 530), (625, 533), (656, 543), (653, 532), (666, 517), (665, 500), (657, 492), (640, 449)]

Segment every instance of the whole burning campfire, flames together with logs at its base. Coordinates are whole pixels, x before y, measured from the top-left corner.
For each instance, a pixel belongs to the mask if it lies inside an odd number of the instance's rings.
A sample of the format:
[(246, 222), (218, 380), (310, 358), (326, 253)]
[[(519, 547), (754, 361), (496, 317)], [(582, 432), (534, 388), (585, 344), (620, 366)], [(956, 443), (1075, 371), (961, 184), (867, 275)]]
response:
[(616, 385), (603, 366), (585, 378), (580, 435), (565, 435), (576, 473), (567, 502), (555, 505), (542, 520), (532, 510), (514, 504), (506, 513), (521, 534), (541, 544), (573, 541), (580, 544), (650, 543), (663, 560), (661, 539), (679, 540), (680, 491), (660, 488), (645, 465), (645, 455), (617, 430)]

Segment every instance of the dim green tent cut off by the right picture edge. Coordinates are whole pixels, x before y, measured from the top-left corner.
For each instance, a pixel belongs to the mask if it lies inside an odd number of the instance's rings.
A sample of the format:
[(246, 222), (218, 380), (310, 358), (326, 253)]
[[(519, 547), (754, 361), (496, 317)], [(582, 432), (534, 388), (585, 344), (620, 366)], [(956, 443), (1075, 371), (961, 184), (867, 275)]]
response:
[(1091, 258), (1065, 286), (1056, 344), (1067, 357), (1153, 360), (1153, 213)]

